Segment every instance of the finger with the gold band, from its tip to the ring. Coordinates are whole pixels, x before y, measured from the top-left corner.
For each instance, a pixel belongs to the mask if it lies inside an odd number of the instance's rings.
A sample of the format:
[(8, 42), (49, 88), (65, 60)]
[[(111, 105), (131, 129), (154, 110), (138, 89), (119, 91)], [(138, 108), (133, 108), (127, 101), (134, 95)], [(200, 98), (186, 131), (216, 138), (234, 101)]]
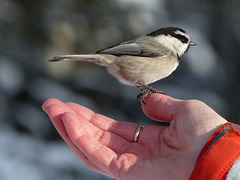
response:
[[(128, 123), (128, 122), (119, 122), (115, 121), (112, 118), (95, 114), (91, 110), (87, 110), (86, 107), (83, 107), (81, 105), (75, 104), (75, 103), (66, 103), (71, 109), (74, 109), (75, 112), (88, 120), (90, 123), (92, 123), (94, 126), (102, 129), (103, 131), (108, 131), (113, 134), (116, 134), (125, 140), (132, 142), (133, 136), (139, 125), (134, 123)], [(88, 113), (83, 113), (83, 111)]]

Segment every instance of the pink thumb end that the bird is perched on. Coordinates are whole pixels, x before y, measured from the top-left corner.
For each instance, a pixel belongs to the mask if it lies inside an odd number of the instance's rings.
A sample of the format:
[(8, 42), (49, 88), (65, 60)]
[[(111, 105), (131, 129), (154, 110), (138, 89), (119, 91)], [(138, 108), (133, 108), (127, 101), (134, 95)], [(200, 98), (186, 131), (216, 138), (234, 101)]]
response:
[(182, 102), (182, 100), (158, 93), (149, 95), (144, 101), (142, 110), (147, 116), (151, 119), (166, 122), (173, 120)]

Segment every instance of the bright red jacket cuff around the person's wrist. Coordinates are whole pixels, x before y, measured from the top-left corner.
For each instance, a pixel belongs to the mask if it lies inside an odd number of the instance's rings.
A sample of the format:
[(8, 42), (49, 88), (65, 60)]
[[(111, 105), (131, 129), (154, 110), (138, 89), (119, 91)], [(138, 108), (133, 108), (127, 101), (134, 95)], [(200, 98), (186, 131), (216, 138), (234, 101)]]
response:
[(189, 179), (225, 179), (228, 170), (239, 157), (240, 126), (228, 122), (209, 138)]

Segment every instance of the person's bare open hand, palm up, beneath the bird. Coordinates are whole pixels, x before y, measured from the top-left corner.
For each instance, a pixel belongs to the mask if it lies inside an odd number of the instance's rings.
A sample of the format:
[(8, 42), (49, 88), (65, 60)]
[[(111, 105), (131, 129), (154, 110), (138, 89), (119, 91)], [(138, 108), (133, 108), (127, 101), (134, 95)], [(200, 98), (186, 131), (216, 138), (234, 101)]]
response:
[[(118, 122), (75, 103), (48, 99), (43, 104), (59, 134), (90, 169), (122, 180), (185, 180), (208, 138), (227, 121), (197, 100), (153, 93), (143, 112), (170, 126), (144, 127)], [(147, 118), (146, 118), (147, 121)]]

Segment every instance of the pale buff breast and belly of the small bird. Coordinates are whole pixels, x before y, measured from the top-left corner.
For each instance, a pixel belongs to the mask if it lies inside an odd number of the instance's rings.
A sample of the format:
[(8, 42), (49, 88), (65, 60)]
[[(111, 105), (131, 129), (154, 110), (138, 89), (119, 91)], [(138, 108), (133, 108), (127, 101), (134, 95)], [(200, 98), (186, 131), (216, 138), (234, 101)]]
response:
[(176, 70), (178, 64), (172, 54), (153, 58), (120, 56), (108, 70), (122, 83), (134, 86), (137, 82), (151, 84), (163, 79)]

